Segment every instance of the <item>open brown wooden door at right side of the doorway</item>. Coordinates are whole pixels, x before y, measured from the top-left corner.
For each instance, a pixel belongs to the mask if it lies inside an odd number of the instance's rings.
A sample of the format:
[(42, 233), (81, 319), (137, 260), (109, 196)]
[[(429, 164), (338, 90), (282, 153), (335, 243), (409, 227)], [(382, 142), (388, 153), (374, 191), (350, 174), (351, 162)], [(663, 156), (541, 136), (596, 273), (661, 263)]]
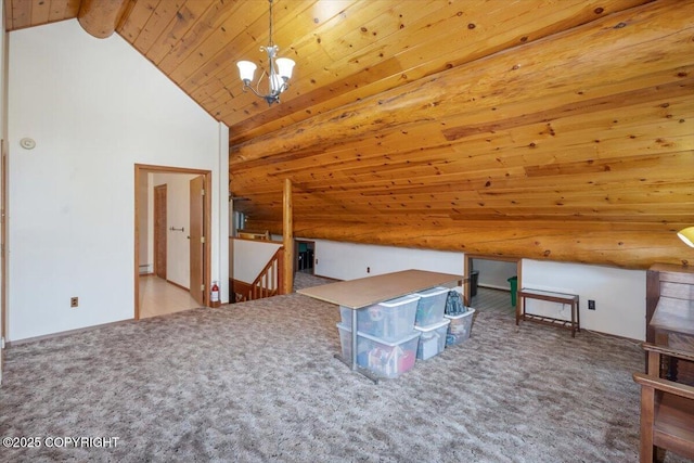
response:
[(190, 291), (193, 299), (201, 306), (205, 305), (205, 177), (197, 176), (191, 180), (191, 210), (190, 210), (190, 247), (191, 247), (191, 283)]

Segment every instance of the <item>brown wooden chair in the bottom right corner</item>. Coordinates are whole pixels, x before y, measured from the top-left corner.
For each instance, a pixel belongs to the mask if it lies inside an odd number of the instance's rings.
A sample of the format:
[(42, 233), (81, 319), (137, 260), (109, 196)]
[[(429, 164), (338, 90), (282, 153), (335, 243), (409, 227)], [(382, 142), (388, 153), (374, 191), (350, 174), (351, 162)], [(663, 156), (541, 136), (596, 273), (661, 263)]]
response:
[(645, 343), (647, 374), (641, 385), (641, 462), (661, 461), (666, 450), (694, 459), (694, 387), (659, 377), (663, 357), (694, 360), (694, 353)]

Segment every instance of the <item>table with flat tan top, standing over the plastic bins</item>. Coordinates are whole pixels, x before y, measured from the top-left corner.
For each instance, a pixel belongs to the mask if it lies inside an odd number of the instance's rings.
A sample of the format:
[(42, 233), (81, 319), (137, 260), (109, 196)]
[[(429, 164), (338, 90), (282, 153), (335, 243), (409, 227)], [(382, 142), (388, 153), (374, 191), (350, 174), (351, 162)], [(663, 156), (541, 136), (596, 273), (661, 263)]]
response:
[(350, 366), (352, 371), (357, 371), (374, 383), (378, 383), (377, 377), (357, 364), (357, 310), (441, 284), (452, 282), (461, 284), (463, 280), (463, 276), (450, 273), (403, 270), (307, 287), (298, 290), (297, 293), (351, 309), (351, 358), (343, 359), (338, 355), (335, 355), (335, 357)]

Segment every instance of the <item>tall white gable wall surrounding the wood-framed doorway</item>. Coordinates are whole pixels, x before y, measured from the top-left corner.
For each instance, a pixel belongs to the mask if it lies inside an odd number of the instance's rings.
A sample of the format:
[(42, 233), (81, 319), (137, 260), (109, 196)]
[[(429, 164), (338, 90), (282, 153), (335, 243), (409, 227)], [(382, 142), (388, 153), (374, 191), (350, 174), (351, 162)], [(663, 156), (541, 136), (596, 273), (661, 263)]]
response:
[(211, 279), (223, 283), (226, 127), (117, 35), (67, 21), (9, 39), (9, 339), (133, 317), (134, 164), (213, 171)]

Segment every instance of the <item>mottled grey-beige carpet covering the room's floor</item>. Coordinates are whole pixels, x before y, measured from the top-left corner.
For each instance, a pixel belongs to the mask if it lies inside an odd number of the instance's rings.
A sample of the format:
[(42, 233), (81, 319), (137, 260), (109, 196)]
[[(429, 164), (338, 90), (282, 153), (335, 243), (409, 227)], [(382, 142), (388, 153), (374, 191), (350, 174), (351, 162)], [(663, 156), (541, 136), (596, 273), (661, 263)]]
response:
[(13, 346), (0, 436), (42, 445), (0, 461), (638, 461), (633, 343), (480, 307), (465, 343), (374, 385), (334, 358), (338, 320), (292, 294)]

